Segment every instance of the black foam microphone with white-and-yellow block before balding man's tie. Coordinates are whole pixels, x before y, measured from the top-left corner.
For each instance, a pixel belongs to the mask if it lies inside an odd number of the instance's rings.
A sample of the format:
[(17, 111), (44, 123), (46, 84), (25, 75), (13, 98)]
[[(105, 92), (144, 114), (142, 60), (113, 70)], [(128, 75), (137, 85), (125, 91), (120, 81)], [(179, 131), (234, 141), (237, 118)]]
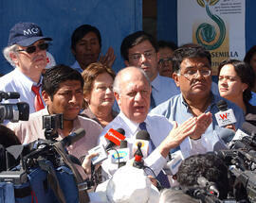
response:
[(133, 154), (137, 151), (137, 144), (141, 144), (140, 150), (144, 158), (149, 154), (150, 134), (146, 130), (140, 130), (137, 132), (136, 141), (133, 144)]

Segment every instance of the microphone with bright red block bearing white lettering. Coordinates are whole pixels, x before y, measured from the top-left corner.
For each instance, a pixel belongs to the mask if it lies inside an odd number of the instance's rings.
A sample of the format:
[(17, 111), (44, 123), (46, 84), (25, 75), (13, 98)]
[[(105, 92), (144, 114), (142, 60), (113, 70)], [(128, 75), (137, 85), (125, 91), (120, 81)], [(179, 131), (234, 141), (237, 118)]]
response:
[(120, 141), (125, 139), (125, 131), (122, 128), (118, 128), (117, 130), (110, 128), (104, 138), (107, 140), (107, 144), (105, 146), (105, 150), (109, 150), (115, 145), (120, 145)]

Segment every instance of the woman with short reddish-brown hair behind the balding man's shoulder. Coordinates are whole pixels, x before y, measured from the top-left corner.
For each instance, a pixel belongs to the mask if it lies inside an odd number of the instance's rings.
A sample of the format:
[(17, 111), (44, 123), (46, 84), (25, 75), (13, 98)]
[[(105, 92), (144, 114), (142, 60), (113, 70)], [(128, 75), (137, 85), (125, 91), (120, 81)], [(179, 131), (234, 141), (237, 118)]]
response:
[(118, 114), (112, 110), (115, 102), (113, 82), (115, 73), (100, 62), (91, 63), (83, 72), (84, 110), (82, 115), (108, 125)]

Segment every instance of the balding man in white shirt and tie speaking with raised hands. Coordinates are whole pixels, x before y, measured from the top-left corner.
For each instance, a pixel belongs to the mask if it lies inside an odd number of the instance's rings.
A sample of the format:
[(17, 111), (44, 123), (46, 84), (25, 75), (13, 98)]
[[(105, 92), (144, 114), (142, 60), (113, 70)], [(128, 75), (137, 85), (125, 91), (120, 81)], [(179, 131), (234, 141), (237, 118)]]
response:
[[(114, 94), (119, 104), (119, 115), (106, 126), (100, 138), (101, 144), (106, 144), (104, 134), (110, 128), (123, 128), (130, 151), (136, 139), (136, 134), (141, 130), (139, 125), (146, 124), (151, 142), (155, 146), (150, 147), (148, 156), (144, 161), (157, 176), (166, 163), (170, 149), (181, 144), (188, 136), (198, 138), (210, 125), (211, 114), (205, 113), (197, 118), (191, 118), (184, 124), (176, 127), (163, 116), (150, 116), (151, 85), (150, 80), (142, 69), (127, 67), (122, 69), (114, 81)], [(133, 158), (130, 153), (130, 158)], [(102, 162), (102, 169), (109, 177), (118, 169), (118, 164), (112, 163), (111, 158)], [(108, 178), (109, 178), (108, 177)]]

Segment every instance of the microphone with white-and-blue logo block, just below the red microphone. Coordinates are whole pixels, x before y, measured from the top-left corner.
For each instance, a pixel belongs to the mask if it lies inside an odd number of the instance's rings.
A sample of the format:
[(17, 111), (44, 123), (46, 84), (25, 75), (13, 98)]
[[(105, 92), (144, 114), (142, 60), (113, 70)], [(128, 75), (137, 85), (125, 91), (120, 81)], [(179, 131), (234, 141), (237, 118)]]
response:
[(119, 167), (124, 166), (129, 161), (130, 150), (128, 148), (127, 141), (120, 141), (120, 147), (117, 151), (113, 150), (111, 154), (111, 161), (113, 163), (119, 163)]

